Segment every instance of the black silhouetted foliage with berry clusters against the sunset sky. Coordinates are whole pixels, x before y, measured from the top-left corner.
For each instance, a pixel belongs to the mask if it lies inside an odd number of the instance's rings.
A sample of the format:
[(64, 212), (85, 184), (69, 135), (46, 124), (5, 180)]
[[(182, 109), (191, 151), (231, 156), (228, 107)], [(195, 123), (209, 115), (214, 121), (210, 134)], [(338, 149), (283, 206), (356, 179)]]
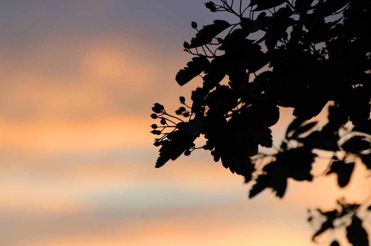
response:
[[(335, 173), (339, 187), (348, 185), (356, 162), (371, 169), (371, 1), (220, 2), (205, 6), (229, 12), (235, 23), (214, 20), (198, 30), (192, 21), (196, 36), (183, 44), (194, 57), (176, 82), (203, 79), (192, 92), (192, 104), (180, 97), (183, 106), (175, 113), (184, 117), (167, 113), (159, 103), (152, 107), (151, 117), (161, 120), (161, 126), (152, 124), (151, 133), (158, 135), (154, 145), (161, 146), (155, 167), (182, 153), (209, 150), (215, 162), (221, 160), (246, 183), (255, 182), (250, 198), (266, 188), (282, 198), (288, 178), (312, 181), (315, 149), (333, 153), (324, 174)], [(226, 76), (228, 85), (221, 85)], [(326, 105), (328, 123), (308, 121)], [(293, 108), (295, 119), (276, 153), (259, 153), (259, 146), (272, 147), (269, 127), (278, 122), (279, 106)], [(196, 147), (201, 135), (206, 143)], [(358, 216), (368, 202), (339, 200), (334, 210), (311, 211), (309, 222), (321, 224), (313, 240), (345, 227), (352, 245), (368, 245)]]

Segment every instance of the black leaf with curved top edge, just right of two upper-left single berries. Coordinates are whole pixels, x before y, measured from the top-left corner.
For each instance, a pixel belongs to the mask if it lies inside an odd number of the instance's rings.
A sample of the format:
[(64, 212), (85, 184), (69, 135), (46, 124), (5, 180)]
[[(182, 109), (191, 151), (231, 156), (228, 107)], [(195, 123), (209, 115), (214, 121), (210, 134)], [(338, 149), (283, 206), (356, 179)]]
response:
[(198, 33), (196, 33), (196, 37), (191, 39), (189, 49), (197, 48), (207, 43), (211, 43), (216, 35), (230, 26), (231, 24), (229, 24), (225, 20), (214, 20), (214, 24), (204, 26), (203, 29), (199, 30)]

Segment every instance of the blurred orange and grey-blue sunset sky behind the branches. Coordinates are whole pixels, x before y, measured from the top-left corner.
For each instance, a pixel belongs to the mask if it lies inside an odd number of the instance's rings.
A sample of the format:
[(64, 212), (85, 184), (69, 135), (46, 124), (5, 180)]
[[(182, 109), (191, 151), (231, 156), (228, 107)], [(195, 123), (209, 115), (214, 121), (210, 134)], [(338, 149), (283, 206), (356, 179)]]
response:
[[(0, 245), (309, 246), (308, 208), (365, 199), (359, 164), (344, 189), (289, 180), (281, 200), (248, 199), (205, 151), (154, 168), (152, 104), (190, 100), (200, 81), (174, 80), (190, 23), (224, 18), (196, 0), (1, 1)], [(276, 143), (292, 114), (280, 111)]]

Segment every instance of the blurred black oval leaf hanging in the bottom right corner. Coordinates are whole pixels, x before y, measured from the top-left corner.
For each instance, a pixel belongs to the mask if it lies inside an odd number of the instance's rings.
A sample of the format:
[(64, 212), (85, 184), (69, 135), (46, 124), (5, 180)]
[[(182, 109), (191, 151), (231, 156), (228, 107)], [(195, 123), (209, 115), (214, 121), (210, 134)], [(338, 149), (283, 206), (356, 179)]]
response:
[(354, 216), (352, 223), (347, 227), (347, 238), (354, 246), (368, 246), (368, 235), (362, 227), (362, 220)]

